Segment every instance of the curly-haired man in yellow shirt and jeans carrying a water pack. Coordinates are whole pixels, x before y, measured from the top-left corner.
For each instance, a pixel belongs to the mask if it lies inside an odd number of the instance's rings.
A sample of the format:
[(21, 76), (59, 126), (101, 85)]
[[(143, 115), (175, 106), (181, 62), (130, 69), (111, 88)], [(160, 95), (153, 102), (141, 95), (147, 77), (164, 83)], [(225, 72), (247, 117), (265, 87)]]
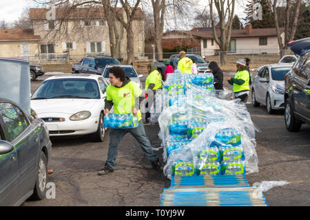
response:
[(126, 133), (131, 133), (141, 148), (147, 155), (155, 170), (163, 170), (163, 165), (159, 162), (158, 156), (153, 152), (151, 143), (145, 134), (141, 111), (137, 110), (136, 99), (142, 94), (140, 87), (125, 75), (121, 67), (111, 67), (110, 85), (107, 86), (105, 98), (105, 114), (109, 113), (114, 106), (114, 113), (133, 113), (138, 118), (138, 126), (131, 129), (110, 129), (109, 150), (105, 166), (98, 175), (112, 173), (115, 167), (118, 144)]

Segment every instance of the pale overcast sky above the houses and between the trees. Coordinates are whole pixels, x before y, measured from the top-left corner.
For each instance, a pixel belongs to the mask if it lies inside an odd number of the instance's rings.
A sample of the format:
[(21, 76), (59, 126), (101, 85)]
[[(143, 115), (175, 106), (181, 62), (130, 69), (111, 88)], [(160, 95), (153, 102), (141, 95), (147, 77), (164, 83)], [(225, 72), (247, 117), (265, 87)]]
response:
[[(200, 5), (205, 5), (207, 0), (196, 0)], [(238, 16), (244, 17), (244, 5), (246, 0), (236, 0), (236, 10), (235, 14)], [(23, 9), (26, 7), (32, 6), (34, 7), (31, 0), (0, 0), (0, 21), (5, 20), (9, 23), (17, 20)]]

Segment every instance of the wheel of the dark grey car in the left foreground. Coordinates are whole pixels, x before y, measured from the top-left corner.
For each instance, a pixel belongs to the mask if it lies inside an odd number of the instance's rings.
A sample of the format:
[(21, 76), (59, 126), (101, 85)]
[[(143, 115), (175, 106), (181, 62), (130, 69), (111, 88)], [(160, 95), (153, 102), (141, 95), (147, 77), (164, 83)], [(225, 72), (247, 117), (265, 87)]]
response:
[(48, 183), (48, 159), (46, 159), (45, 154), (41, 151), (36, 184), (34, 185), (34, 192), (30, 199), (40, 200), (45, 197), (46, 184)]

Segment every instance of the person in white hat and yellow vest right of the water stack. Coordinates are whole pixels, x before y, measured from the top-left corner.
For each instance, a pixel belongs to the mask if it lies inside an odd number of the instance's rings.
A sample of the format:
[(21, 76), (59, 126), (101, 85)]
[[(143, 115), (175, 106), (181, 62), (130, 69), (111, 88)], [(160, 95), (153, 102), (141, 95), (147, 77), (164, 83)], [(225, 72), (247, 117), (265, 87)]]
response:
[(245, 59), (240, 59), (236, 63), (237, 72), (232, 78), (226, 78), (228, 83), (233, 85), (233, 91), (236, 98), (240, 98), (242, 102), (247, 102), (249, 97), (249, 72), (247, 72), (247, 62)]

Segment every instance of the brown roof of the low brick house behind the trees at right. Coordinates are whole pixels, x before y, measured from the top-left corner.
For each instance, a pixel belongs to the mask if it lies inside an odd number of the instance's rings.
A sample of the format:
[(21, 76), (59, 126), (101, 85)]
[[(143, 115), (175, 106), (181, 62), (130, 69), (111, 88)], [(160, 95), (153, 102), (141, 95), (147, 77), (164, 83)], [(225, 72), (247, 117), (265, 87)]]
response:
[[(284, 32), (284, 28), (280, 28), (280, 32)], [(198, 36), (202, 39), (214, 39), (212, 30), (194, 31), (194, 36)], [(216, 35), (220, 37), (220, 30), (216, 30)], [(258, 36), (277, 36), (276, 28), (253, 28), (251, 34), (246, 34), (245, 29), (231, 30), (231, 38), (242, 37), (258, 37)]]

